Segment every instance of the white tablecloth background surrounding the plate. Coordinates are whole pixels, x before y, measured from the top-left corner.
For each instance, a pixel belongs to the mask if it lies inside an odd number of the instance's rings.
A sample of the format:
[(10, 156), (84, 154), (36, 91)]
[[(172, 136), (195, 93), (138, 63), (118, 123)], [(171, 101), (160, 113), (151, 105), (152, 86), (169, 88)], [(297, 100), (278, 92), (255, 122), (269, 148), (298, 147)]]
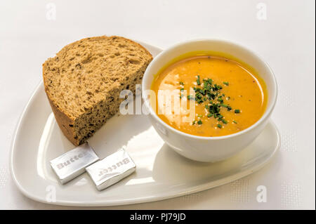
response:
[[(47, 16), (55, 4), (55, 20)], [(258, 20), (258, 3), (266, 20)], [(315, 1), (0, 1), (0, 209), (69, 209), (27, 199), (8, 158), (15, 125), (62, 46), (120, 35), (166, 48), (195, 38), (235, 41), (261, 55), (279, 84), (272, 119), (282, 146), (268, 166), (234, 183), (161, 202), (105, 209), (315, 209)], [(268, 202), (256, 201), (265, 185)]]

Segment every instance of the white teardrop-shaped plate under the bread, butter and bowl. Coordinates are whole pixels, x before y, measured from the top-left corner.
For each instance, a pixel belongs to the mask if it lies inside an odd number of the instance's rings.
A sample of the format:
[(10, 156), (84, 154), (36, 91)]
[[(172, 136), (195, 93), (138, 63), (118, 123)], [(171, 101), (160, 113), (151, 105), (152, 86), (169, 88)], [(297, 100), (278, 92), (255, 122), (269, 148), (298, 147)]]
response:
[[(143, 44), (143, 43), (141, 43)], [(153, 56), (161, 49), (143, 44)], [(247, 176), (269, 162), (279, 147), (271, 122), (249, 147), (213, 164), (193, 162), (173, 152), (145, 115), (116, 115), (89, 139), (103, 158), (125, 147), (136, 173), (99, 192), (86, 173), (61, 185), (49, 161), (74, 146), (62, 135), (43, 84), (27, 103), (11, 149), (11, 173), (20, 191), (39, 202), (72, 206), (113, 206), (152, 202), (216, 187)], [(53, 193), (55, 192), (55, 202)]]

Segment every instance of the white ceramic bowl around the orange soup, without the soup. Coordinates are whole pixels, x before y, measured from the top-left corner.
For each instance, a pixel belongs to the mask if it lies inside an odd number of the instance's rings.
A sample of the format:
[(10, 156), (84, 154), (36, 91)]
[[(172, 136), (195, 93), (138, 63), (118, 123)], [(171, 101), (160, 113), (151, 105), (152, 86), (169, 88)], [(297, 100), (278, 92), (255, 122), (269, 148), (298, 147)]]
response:
[[(152, 110), (149, 97), (145, 95), (145, 90), (150, 89), (154, 75), (157, 74), (164, 65), (174, 58), (192, 51), (216, 51), (229, 54), (253, 67), (258, 72), (258, 75), (265, 81), (268, 91), (268, 104), (261, 119), (248, 129), (220, 137), (193, 136), (173, 129), (173, 127), (162, 121), (154, 110)], [(228, 159), (243, 150), (263, 131), (275, 107), (277, 100), (277, 82), (270, 67), (256, 55), (256, 53), (230, 41), (200, 39), (171, 46), (162, 51), (162, 53), (159, 53), (159, 55), (150, 62), (150, 65), (145, 71), (142, 83), (142, 95), (145, 106), (150, 112), (148, 117), (150, 118), (152, 126), (154, 126), (154, 129), (156, 129), (159, 136), (162, 137), (167, 145), (188, 159), (199, 162), (217, 162)]]

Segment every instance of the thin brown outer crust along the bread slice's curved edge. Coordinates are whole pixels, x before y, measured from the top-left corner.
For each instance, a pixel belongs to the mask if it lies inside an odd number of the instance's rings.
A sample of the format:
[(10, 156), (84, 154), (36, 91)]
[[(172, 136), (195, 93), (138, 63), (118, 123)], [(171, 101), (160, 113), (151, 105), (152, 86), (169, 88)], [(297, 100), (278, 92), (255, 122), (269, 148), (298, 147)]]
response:
[[(101, 37), (93, 37), (93, 38), (104, 38), (106, 36), (101, 36)], [(149, 53), (149, 51), (147, 51), (146, 48), (144, 48), (143, 46), (141, 46), (140, 44), (136, 43), (135, 41), (132, 41), (130, 39), (126, 39), (124, 37), (118, 37), (118, 36), (111, 36), (111, 37), (107, 37), (107, 38), (120, 38), (120, 39), (125, 39), (126, 41), (130, 41), (133, 44), (136, 44), (138, 46), (140, 46), (140, 48), (143, 48), (145, 50), (146, 53), (148, 53), (148, 55), (150, 55), (150, 61), (152, 60), (152, 55)], [(83, 41), (85, 39), (91, 39), (91, 37), (88, 38), (84, 38), (81, 39), (79, 41)], [(74, 43), (76, 43), (78, 41), (75, 41)], [(72, 44), (74, 44), (72, 43)], [(70, 44), (68, 44), (67, 46), (65, 46), (64, 48), (62, 48), (61, 51), (66, 51), (67, 48), (69, 48)], [(50, 60), (50, 59), (48, 59)], [(48, 62), (48, 60), (46, 60), (46, 62)], [(71, 116), (70, 114), (67, 114), (66, 111), (62, 111), (62, 108), (58, 107), (57, 104), (55, 104), (53, 102), (53, 100), (51, 100), (49, 94), (48, 94), (48, 84), (46, 83), (46, 79), (44, 77), (44, 70), (46, 67), (46, 62), (44, 62), (43, 64), (43, 80), (44, 80), (44, 88), (45, 88), (45, 92), (48, 98), (48, 102), (51, 105), (51, 109), (53, 110), (53, 114), (55, 115), (55, 119), (58, 123), (58, 126), (60, 127), (60, 130), (62, 131), (62, 133), (65, 135), (65, 137), (70, 140), (70, 142), (76, 146), (80, 145), (81, 142), (78, 138), (76, 138), (76, 136), (74, 135), (74, 124), (75, 124), (75, 119), (73, 116)]]

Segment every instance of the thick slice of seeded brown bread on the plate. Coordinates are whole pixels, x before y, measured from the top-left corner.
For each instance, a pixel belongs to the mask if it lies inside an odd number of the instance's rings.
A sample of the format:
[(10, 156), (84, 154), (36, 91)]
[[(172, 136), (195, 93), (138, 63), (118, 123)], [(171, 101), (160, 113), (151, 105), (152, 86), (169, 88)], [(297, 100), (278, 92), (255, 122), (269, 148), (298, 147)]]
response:
[(62, 133), (81, 145), (119, 110), (121, 90), (140, 84), (152, 55), (124, 37), (91, 37), (43, 64), (46, 95)]

